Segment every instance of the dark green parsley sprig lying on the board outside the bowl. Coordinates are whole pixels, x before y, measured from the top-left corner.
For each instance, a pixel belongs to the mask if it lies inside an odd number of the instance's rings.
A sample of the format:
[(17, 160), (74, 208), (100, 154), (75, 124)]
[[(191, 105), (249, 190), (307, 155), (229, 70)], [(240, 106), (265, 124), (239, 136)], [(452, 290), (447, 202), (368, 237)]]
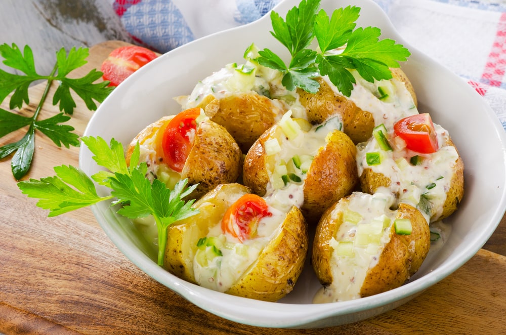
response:
[[(96, 110), (95, 101), (102, 102), (113, 88), (108, 87), (108, 81), (94, 83), (101, 78), (102, 72), (96, 69), (91, 70), (81, 78), (69, 78), (68, 74), (87, 63), (89, 56), (87, 48), (72, 48), (68, 54), (65, 49), (56, 53), (56, 63), (49, 75), (38, 74), (35, 70), (33, 52), (29, 46), (25, 46), (23, 52), (13, 44), (0, 45), (0, 55), (4, 58), (3, 63), (23, 74), (13, 74), (0, 69), (0, 103), (9, 95), (9, 108), (22, 109), (23, 103), (29, 104), (28, 88), (32, 82), (47, 81), (46, 89), (41, 97), (35, 111), (31, 116), (24, 116), (20, 113), (10, 112), (0, 108), (0, 137), (4, 137), (23, 127), (27, 127), (26, 134), (21, 140), (6, 144), (0, 147), (0, 159), (15, 153), (11, 160), (11, 170), (16, 180), (24, 177), (30, 169), (33, 153), (35, 150), (35, 131), (40, 131), (49, 137), (58, 147), (64, 145), (66, 148), (79, 146), (78, 135), (72, 133), (73, 127), (64, 122), (70, 119), (75, 101), (71, 91), (77, 94), (85, 103), (88, 109)], [(53, 105), (58, 105), (61, 113), (43, 120), (37, 120), (42, 109), (49, 89), (53, 81), (58, 82), (58, 88), (53, 95)], [(65, 115), (68, 114), (68, 115)]]

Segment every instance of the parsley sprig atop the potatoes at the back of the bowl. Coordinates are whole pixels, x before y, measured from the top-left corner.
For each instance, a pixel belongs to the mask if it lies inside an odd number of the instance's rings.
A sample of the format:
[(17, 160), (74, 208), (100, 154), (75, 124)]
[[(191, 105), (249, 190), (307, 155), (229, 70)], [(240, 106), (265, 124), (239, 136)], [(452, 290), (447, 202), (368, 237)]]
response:
[[(288, 49), (291, 60), (286, 65), (269, 49), (259, 51), (260, 56), (255, 60), (281, 71), (286, 89), (301, 88), (316, 93), (320, 85), (315, 78), (328, 75), (330, 81), (349, 97), (355, 83), (350, 70), (357, 70), (370, 82), (390, 79), (389, 67), (399, 67), (398, 62), (410, 56), (409, 51), (394, 40), (379, 40), (379, 28), (356, 28), (360, 8), (336, 9), (330, 18), (319, 8), (320, 0), (302, 0), (299, 7), (288, 11), (285, 20), (278, 13), (271, 12), (271, 34)], [(310, 48), (315, 37), (317, 50)]]

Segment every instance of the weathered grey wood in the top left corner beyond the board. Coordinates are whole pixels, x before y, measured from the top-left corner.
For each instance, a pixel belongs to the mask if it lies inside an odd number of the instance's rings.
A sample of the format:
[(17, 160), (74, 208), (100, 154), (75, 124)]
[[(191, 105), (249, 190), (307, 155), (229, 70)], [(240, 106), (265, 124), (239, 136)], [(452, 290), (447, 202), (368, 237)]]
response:
[[(36, 69), (49, 74), (60, 48), (92, 47), (106, 40), (132, 42), (109, 0), (2, 0), (0, 43), (29, 45)], [(0, 63), (0, 68), (14, 72)]]

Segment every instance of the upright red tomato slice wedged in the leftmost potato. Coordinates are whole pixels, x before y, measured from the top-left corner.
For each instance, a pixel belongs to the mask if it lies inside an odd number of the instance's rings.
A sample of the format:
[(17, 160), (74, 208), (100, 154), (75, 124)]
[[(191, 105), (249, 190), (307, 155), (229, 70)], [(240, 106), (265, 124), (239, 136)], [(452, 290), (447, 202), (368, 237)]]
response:
[(191, 108), (174, 116), (163, 130), (161, 147), (168, 166), (177, 172), (183, 171), (186, 159), (195, 140), (200, 108)]

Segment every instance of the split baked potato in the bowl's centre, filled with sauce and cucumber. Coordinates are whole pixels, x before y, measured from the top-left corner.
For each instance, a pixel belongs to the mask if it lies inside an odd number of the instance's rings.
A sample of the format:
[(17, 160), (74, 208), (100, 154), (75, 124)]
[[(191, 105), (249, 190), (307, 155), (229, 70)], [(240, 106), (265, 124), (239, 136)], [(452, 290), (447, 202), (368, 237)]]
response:
[(356, 147), (339, 122), (313, 127), (286, 115), (246, 154), (243, 183), (260, 196), (292, 201), (316, 224), (325, 208), (358, 185)]

